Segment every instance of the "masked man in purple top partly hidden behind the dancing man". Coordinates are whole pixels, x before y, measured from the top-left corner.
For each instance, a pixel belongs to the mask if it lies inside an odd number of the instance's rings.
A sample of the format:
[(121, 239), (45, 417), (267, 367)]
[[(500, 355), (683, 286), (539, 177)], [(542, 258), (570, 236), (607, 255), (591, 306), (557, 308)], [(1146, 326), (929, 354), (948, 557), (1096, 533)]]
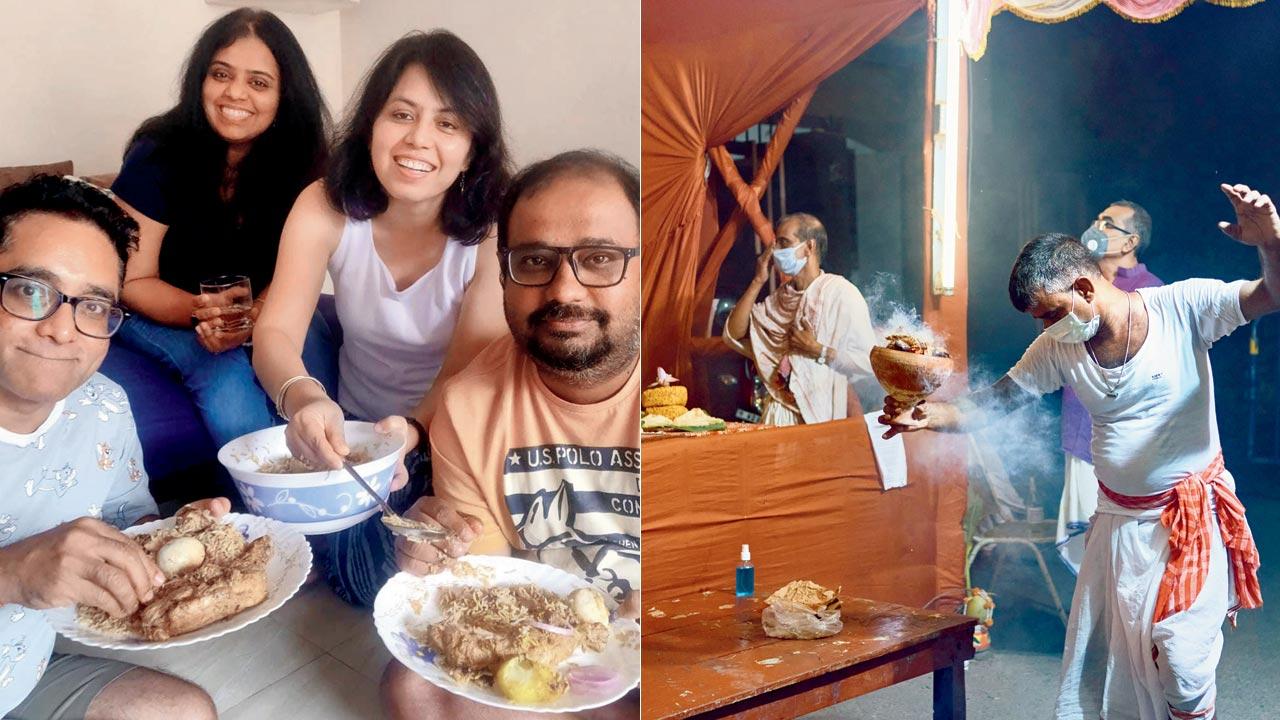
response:
[[(1133, 292), (1139, 287), (1165, 284), (1138, 261), (1138, 251), (1151, 245), (1151, 215), (1128, 200), (1117, 200), (1098, 213), (1080, 242), (1098, 261), (1102, 277), (1114, 286)], [(1070, 387), (1062, 388), (1062, 501), (1057, 510), (1057, 551), (1073, 573), (1080, 571), (1084, 557), (1084, 532), (1098, 509), (1098, 478), (1093, 471), (1093, 419)]]

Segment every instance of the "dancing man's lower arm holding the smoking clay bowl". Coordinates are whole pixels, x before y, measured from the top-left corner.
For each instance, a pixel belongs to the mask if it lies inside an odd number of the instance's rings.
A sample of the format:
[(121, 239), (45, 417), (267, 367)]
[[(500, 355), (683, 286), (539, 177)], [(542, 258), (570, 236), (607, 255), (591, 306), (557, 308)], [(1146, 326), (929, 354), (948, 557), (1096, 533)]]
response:
[(960, 397), (955, 402), (922, 402), (911, 407), (886, 397), (884, 414), (879, 416), (879, 421), (882, 425), (888, 425), (884, 439), (899, 433), (923, 429), (968, 433), (1007, 416), (1036, 397), (1005, 375), (996, 380), (996, 384)]

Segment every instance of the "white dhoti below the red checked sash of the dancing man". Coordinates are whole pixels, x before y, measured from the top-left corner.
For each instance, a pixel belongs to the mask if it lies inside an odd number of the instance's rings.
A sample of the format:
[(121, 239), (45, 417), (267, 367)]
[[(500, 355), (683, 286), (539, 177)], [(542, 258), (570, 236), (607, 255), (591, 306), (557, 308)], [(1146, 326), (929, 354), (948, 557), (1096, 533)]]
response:
[(1071, 601), (1057, 720), (1213, 717), (1222, 620), (1234, 603), (1226, 548), (1215, 514), (1204, 587), (1153, 626), (1170, 553), (1160, 514), (1098, 500)]

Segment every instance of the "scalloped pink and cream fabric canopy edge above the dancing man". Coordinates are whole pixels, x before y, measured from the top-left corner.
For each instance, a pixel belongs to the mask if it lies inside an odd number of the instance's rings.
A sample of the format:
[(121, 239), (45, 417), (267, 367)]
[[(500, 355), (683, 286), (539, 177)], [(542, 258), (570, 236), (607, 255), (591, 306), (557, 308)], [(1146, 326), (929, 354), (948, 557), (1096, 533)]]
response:
[[(991, 18), (1009, 10), (1019, 18), (1037, 23), (1060, 23), (1106, 5), (1135, 23), (1158, 23), (1181, 13), (1193, 0), (956, 0), (964, 6), (965, 27), (960, 38), (965, 53), (974, 60), (987, 51)], [(1226, 8), (1248, 8), (1262, 0), (1207, 0)]]

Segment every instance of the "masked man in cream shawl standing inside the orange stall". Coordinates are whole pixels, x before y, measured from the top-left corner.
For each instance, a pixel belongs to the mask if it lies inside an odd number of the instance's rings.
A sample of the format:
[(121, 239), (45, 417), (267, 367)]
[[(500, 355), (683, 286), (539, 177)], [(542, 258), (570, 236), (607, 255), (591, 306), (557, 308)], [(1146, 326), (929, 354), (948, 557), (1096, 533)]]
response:
[[(778, 222), (772, 252), (760, 254), (755, 277), (724, 323), (724, 342), (755, 361), (769, 389), (769, 425), (826, 423), (860, 414), (855, 392), (878, 398), (870, 350), (876, 345), (863, 293), (841, 275), (822, 272), (827, 231), (805, 213)], [(769, 265), (790, 281), (755, 302)]]

